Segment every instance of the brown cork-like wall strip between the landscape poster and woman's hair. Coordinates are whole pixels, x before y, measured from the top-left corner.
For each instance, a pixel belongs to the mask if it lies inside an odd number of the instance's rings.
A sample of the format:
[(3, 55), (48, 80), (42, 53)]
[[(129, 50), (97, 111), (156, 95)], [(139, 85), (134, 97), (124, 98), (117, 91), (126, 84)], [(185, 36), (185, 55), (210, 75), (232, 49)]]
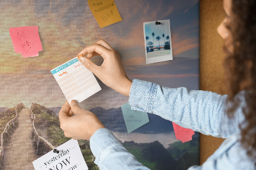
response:
[[(200, 1), (200, 89), (224, 95), (224, 41), (217, 27), (225, 18), (222, 0)], [(200, 164), (203, 164), (223, 139), (200, 134)]]

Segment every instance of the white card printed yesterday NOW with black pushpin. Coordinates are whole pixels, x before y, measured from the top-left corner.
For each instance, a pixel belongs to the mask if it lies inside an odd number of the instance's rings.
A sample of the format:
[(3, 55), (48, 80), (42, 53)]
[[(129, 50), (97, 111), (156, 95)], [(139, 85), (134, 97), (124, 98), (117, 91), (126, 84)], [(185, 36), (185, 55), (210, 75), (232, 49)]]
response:
[(50, 151), (36, 159), (33, 162), (35, 170), (88, 169), (76, 140), (71, 139), (67, 143), (61, 144), (56, 150), (59, 153)]

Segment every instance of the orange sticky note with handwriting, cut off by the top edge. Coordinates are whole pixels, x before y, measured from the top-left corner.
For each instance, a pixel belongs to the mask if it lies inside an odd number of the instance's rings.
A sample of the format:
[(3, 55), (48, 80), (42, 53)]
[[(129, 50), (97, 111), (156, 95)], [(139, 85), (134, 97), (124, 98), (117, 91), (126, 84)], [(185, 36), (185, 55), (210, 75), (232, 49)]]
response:
[(106, 27), (122, 20), (113, 0), (88, 0), (88, 4), (100, 27)]

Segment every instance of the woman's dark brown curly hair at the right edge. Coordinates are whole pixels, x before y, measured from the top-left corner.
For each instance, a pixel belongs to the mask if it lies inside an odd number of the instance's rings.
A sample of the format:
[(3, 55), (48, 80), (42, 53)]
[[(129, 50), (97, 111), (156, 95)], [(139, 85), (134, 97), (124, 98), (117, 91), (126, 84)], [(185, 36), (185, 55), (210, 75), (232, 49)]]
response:
[[(244, 90), (246, 107), (241, 129), (241, 144), (249, 157), (256, 160), (256, 1), (232, 0), (232, 15), (228, 29), (232, 40), (226, 42), (224, 50), (227, 73), (227, 114), (231, 118), (240, 104), (236, 98)], [(230, 50), (230, 45), (232, 50)], [(255, 163), (256, 165), (256, 163)]]

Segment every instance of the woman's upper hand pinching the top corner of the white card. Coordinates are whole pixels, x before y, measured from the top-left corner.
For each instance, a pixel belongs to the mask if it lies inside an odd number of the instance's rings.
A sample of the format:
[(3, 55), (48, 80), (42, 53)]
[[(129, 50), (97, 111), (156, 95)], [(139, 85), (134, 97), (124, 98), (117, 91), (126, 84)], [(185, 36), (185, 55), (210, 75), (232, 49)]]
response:
[[(79, 57), (83, 54), (84, 57)], [(87, 54), (87, 56), (86, 56)], [(86, 57), (85, 57), (86, 56)], [(102, 56), (102, 65), (95, 65), (90, 58)], [(77, 58), (83, 65), (93, 72), (106, 86), (115, 89), (118, 93), (129, 97), (132, 81), (127, 77), (120, 56), (104, 40), (99, 40), (89, 47), (85, 47)]]

